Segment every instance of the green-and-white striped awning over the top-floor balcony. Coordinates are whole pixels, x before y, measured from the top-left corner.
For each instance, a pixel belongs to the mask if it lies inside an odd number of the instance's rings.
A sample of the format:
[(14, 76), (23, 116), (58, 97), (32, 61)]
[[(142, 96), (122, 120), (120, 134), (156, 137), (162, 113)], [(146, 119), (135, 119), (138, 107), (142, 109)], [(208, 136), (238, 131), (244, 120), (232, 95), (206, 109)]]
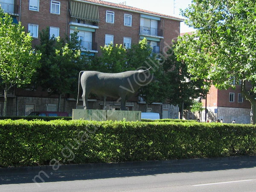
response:
[(79, 20), (99, 22), (99, 8), (96, 5), (70, 1), (70, 17)]

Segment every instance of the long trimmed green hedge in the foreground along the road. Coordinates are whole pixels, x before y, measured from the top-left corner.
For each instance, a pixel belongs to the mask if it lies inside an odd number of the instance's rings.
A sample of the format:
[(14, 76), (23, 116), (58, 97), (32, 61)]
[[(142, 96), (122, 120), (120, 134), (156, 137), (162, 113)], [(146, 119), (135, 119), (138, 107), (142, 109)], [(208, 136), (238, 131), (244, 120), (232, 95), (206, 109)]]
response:
[(49, 165), (52, 159), (66, 164), (231, 155), (256, 155), (254, 125), (0, 120), (0, 166)]

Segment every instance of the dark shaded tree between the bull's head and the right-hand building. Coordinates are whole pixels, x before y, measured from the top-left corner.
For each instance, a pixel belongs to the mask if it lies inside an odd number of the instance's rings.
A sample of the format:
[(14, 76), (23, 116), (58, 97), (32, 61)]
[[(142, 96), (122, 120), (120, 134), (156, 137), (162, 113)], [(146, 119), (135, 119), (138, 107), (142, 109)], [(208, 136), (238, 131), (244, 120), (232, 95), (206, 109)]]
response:
[(183, 118), (183, 110), (188, 109), (194, 99), (205, 98), (208, 89), (204, 88), (204, 79), (195, 79), (188, 71), (186, 62), (177, 61), (172, 49), (168, 50), (169, 56), (163, 62), (164, 75), (166, 76), (166, 98), (172, 105), (178, 105), (180, 119)]

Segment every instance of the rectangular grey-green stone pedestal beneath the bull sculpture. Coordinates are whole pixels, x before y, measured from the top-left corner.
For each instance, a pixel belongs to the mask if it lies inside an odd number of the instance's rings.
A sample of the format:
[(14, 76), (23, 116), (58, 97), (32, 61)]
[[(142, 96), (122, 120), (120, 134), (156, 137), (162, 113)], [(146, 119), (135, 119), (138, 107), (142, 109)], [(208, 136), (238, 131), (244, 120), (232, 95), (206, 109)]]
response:
[(141, 121), (141, 111), (112, 111), (94, 109), (73, 109), (72, 119), (95, 121)]

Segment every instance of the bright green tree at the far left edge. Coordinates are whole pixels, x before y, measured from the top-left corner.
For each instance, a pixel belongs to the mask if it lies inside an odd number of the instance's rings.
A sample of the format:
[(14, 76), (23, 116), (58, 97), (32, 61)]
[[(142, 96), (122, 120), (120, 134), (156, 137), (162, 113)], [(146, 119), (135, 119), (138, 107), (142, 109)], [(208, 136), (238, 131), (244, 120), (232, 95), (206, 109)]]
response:
[(12, 23), (0, 7), (0, 84), (4, 90), (3, 116), (6, 116), (7, 93), (11, 87), (29, 84), (40, 54), (32, 49), (32, 37), (21, 23)]

